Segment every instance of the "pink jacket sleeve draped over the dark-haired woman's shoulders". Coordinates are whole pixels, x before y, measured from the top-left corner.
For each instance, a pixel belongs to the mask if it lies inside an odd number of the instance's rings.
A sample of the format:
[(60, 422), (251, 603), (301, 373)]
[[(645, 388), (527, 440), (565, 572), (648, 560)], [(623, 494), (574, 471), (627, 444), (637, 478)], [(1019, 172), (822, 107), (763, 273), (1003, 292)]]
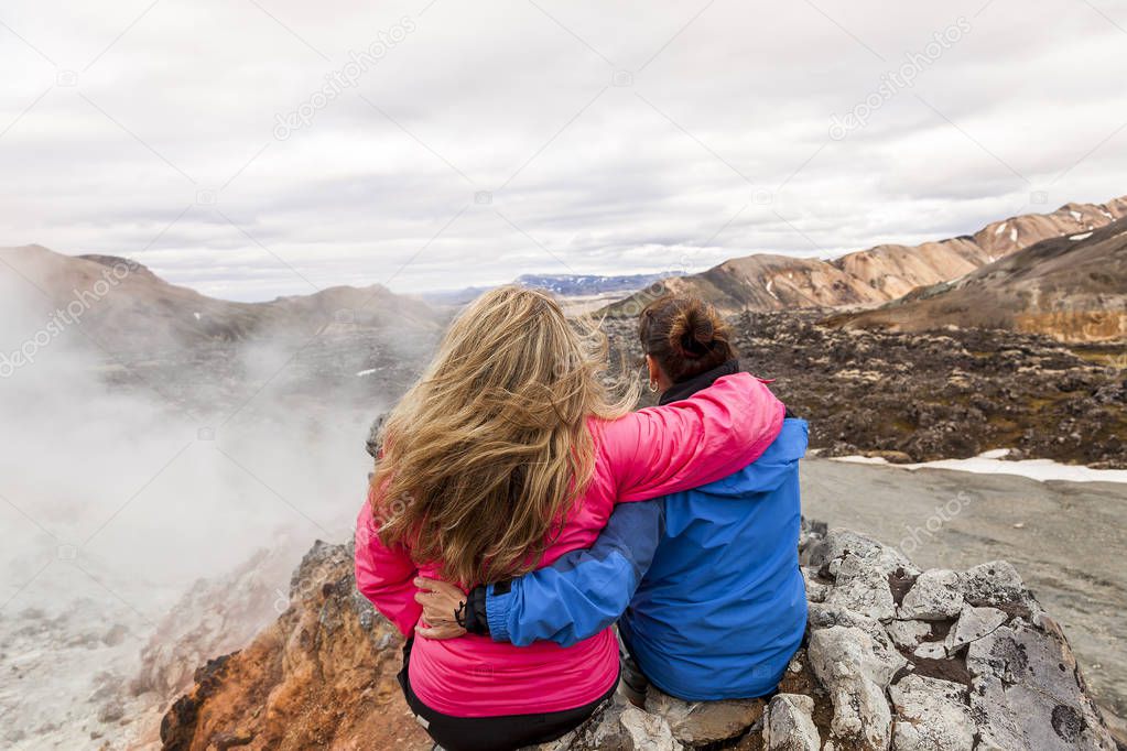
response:
[(616, 500), (645, 501), (742, 470), (778, 437), (786, 411), (758, 378), (736, 373), (689, 399), (603, 423)]

